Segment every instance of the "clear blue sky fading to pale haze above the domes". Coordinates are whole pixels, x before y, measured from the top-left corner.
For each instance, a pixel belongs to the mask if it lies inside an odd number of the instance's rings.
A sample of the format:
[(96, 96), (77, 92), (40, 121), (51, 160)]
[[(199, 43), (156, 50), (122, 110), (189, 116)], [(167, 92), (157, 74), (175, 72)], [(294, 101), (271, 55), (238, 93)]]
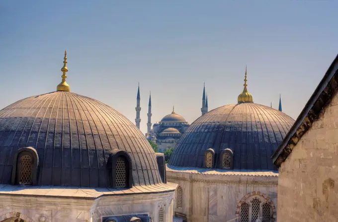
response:
[(93, 97), (141, 130), (237, 102), (248, 65), (256, 103), (296, 119), (338, 53), (336, 0), (1, 0), (0, 107), (56, 89), (68, 52), (71, 91)]

